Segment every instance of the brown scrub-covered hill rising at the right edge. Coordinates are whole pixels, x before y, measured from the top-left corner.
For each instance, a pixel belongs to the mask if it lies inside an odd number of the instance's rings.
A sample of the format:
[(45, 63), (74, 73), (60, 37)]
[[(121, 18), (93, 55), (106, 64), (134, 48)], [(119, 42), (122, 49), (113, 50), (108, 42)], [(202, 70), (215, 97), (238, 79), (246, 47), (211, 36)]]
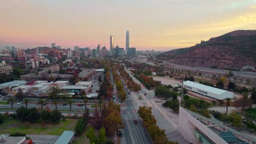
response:
[(241, 69), (256, 68), (256, 30), (226, 33), (195, 46), (161, 53), (158, 59), (196, 67)]

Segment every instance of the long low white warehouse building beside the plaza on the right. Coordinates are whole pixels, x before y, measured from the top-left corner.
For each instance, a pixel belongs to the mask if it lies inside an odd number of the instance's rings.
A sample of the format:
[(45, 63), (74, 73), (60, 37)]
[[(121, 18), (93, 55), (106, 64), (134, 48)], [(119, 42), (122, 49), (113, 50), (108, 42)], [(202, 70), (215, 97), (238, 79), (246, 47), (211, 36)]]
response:
[(213, 99), (224, 100), (226, 98), (234, 98), (234, 93), (223, 89), (202, 85), (192, 81), (185, 81), (183, 84), (186, 89)]

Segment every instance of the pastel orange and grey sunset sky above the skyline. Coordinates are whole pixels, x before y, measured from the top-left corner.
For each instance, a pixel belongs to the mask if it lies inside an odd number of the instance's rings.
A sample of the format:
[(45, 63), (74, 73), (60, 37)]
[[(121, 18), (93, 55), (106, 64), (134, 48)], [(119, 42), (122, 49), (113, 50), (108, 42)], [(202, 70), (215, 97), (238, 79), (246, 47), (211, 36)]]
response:
[(0, 48), (130, 47), (167, 51), (256, 29), (256, 0), (1, 0)]

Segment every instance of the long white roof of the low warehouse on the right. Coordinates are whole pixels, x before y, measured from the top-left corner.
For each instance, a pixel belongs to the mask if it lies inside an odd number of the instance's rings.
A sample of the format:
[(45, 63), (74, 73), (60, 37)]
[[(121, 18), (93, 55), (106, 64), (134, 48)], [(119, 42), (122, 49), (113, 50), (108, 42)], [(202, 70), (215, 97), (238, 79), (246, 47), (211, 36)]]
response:
[[(196, 82), (192, 82), (192, 81), (185, 81), (183, 84), (186, 86), (197, 88), (197, 89), (203, 89), (204, 91), (215, 93), (215, 94), (223, 94), (225, 92), (228, 92), (223, 89), (202, 85), (200, 83), (196, 83)], [(231, 92), (229, 92), (229, 93), (231, 93)]]

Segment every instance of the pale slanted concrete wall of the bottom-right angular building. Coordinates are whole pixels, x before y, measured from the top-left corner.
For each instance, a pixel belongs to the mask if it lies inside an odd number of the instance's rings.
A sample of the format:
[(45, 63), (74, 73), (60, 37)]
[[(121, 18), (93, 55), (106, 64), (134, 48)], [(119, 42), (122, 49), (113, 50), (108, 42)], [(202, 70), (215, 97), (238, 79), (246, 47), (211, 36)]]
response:
[(195, 117), (190, 115), (183, 107), (179, 107), (179, 133), (189, 142), (192, 143), (201, 143), (194, 136), (195, 128), (202, 131), (208, 139), (212, 140), (215, 143), (226, 143), (222, 138), (215, 134), (212, 130), (208, 129), (204, 124), (198, 121)]

